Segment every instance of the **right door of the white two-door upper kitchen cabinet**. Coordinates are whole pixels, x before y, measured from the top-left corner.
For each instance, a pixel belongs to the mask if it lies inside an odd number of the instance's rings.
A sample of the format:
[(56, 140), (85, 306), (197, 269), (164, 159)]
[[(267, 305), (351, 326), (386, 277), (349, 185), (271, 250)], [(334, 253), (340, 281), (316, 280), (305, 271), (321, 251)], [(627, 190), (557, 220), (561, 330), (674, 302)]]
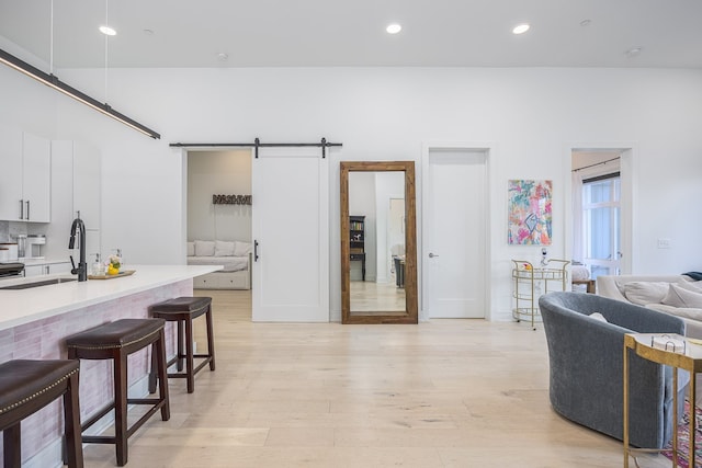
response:
[(24, 220), (49, 222), (52, 147), (46, 138), (24, 134), (22, 199)]

